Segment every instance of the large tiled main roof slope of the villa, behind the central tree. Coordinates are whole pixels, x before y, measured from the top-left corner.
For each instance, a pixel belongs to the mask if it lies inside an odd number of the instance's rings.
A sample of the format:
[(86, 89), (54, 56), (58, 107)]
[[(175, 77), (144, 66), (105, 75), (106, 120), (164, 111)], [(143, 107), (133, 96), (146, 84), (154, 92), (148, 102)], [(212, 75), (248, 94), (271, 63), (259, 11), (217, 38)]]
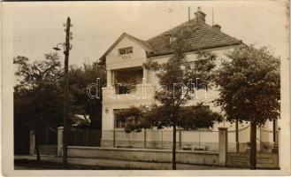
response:
[(149, 54), (149, 57), (171, 54), (172, 50), (169, 45), (170, 36), (185, 27), (190, 27), (193, 33), (188, 39), (188, 43), (191, 45), (190, 50), (213, 49), (241, 44), (240, 40), (214, 29), (203, 21), (199, 22), (196, 19), (191, 19), (177, 27), (165, 31), (161, 35), (150, 38), (147, 42), (155, 53)]

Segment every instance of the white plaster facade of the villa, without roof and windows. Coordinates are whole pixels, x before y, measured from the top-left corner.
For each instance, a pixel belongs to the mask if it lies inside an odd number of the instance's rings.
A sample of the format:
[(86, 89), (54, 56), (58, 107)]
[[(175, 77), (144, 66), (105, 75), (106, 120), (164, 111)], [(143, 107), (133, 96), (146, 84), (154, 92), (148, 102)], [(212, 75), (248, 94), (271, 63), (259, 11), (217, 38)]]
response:
[[(133, 46), (133, 54), (131, 58), (122, 59), (119, 56), (119, 49)], [(217, 67), (221, 63), (222, 58), (226, 58), (225, 53), (228, 51), (234, 50), (234, 47), (226, 47), (226, 48), (219, 48), (210, 50), (211, 52), (217, 55)], [(157, 61), (157, 63), (162, 64), (167, 62), (167, 60), (171, 58), (171, 55), (168, 56), (160, 56), (160, 57), (153, 57), (149, 58), (152, 61)], [(197, 59), (196, 52), (188, 52), (186, 54), (186, 58), (188, 61), (195, 61)], [(106, 57), (106, 67), (107, 69), (119, 69), (119, 68), (126, 68), (132, 66), (141, 66), (142, 63), (146, 62), (146, 55), (145, 49), (143, 49), (139, 44), (133, 42), (131, 39), (125, 37), (123, 38), (117, 46)], [(159, 86), (158, 78), (155, 72), (149, 71), (148, 72), (148, 82), (155, 85), (156, 87)], [(199, 102), (203, 102), (204, 104), (208, 104), (211, 106), (211, 110), (215, 112), (220, 112), (220, 108), (215, 106), (211, 101), (218, 97), (218, 92), (215, 89), (210, 89), (205, 93), (205, 90), (198, 90), (197, 96), (194, 100), (191, 100), (186, 104), (186, 106), (194, 105)], [(131, 97), (121, 96), (121, 99), (111, 99), (106, 98), (103, 99), (103, 129), (109, 130), (113, 129), (113, 109), (121, 109), (121, 108), (128, 108), (131, 105), (139, 106), (140, 104), (152, 104), (155, 101), (152, 99), (151, 101), (142, 100), (142, 99), (132, 99)], [(122, 106), (120, 106), (122, 105)], [(109, 112), (105, 113), (105, 109), (108, 109)], [(217, 130), (217, 127), (220, 126), (227, 126), (229, 123), (225, 123), (226, 125), (215, 125), (214, 129)]]

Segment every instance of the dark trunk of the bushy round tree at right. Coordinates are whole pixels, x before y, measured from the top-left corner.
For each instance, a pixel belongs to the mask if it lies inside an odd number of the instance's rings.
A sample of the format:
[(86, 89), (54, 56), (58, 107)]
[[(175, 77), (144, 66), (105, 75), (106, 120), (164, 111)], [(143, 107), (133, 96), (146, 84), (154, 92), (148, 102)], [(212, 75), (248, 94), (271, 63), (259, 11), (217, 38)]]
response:
[(249, 169), (257, 168), (257, 125), (256, 122), (250, 122), (250, 152), (249, 152)]

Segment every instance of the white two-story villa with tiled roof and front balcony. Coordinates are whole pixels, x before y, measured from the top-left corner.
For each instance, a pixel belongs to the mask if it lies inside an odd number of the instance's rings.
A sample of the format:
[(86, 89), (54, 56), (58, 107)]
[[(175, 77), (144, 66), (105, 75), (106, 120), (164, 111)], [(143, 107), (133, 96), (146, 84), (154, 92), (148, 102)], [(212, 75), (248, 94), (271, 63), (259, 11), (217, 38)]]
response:
[[(153, 93), (158, 87), (156, 73), (145, 70), (142, 64), (148, 60), (165, 63), (171, 58), (172, 50), (169, 44), (173, 40), (172, 34), (174, 32), (184, 27), (193, 27), (193, 34), (188, 39), (192, 50), (186, 53), (189, 63), (195, 62), (197, 50), (209, 50), (217, 55), (217, 65), (219, 66), (221, 58), (226, 58), (226, 51), (234, 50), (234, 47), (242, 44), (240, 40), (223, 33), (219, 25), (210, 26), (206, 24), (205, 16), (206, 14), (198, 9), (195, 12), (194, 19), (190, 19), (146, 41), (123, 33), (106, 50), (100, 58), (100, 64), (105, 65), (107, 70), (107, 86), (103, 88), (103, 147), (171, 148), (171, 128), (143, 130), (140, 133), (126, 134), (124, 131), (125, 125), (115, 119), (114, 112), (130, 106), (156, 102), (153, 97)], [(195, 69), (195, 65), (193, 69)], [(133, 84), (134, 88), (128, 90), (118, 83)], [(220, 112), (219, 107), (211, 104), (211, 101), (217, 97), (218, 92), (215, 90), (208, 90), (207, 92), (201, 90), (198, 92), (196, 99), (190, 101), (187, 105), (204, 102), (210, 106), (211, 110)], [(235, 126), (227, 122), (215, 125), (211, 129), (180, 130), (177, 133), (177, 144), (180, 149), (216, 150), (218, 147), (218, 126), (228, 127), (228, 142), (232, 144), (229, 149), (234, 150)], [(248, 146), (246, 142), (249, 142), (249, 125), (240, 124), (239, 129), (239, 142), (241, 142), (242, 150)], [(270, 129), (269, 124), (266, 124), (265, 129)], [(272, 142), (272, 134), (262, 128), (259, 128), (257, 137), (260, 142)]]

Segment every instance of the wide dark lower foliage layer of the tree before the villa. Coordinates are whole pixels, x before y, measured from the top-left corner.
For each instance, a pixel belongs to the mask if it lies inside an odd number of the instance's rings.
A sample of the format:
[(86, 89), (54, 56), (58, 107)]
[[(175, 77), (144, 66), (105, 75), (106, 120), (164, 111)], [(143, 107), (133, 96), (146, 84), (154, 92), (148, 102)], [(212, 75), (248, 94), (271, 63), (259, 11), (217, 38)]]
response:
[[(141, 132), (142, 129), (171, 127), (169, 112), (171, 110), (168, 107), (157, 104), (132, 106), (119, 110), (116, 118), (126, 123), (126, 133)], [(217, 112), (211, 112), (208, 106), (203, 103), (180, 107), (180, 112), (177, 113), (177, 126), (185, 130), (212, 127), (215, 121), (221, 120), (222, 117)]]

